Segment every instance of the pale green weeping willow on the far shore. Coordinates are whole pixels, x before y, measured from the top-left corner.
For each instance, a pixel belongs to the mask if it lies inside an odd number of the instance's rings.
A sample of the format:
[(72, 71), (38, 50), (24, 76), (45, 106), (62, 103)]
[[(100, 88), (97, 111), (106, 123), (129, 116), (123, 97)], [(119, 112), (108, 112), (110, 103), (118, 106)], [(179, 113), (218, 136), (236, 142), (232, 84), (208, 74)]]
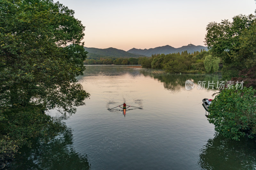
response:
[(212, 57), (212, 55), (207, 55), (205, 56), (205, 59), (204, 59), (204, 68), (207, 73), (211, 71), (215, 73), (219, 70), (219, 63), (220, 63), (220, 58)]

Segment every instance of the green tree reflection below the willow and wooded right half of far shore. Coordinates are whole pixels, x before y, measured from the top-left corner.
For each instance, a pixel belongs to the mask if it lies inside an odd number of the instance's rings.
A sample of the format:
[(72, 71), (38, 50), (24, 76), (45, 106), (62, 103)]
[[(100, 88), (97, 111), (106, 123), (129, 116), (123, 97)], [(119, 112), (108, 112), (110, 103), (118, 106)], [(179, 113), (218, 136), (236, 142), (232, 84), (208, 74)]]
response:
[[(164, 83), (164, 88), (170, 90), (180, 90), (182, 87), (185, 87), (186, 80), (191, 80), (195, 84), (198, 81), (206, 81), (205, 89), (208, 86), (208, 81), (210, 83), (215, 83), (214, 87), (217, 87), (217, 81), (221, 79), (219, 74), (152, 74), (152, 70), (141, 70), (140, 71), (144, 76), (150, 76)], [(196, 88), (196, 87), (195, 87)], [(210, 86), (210, 89), (212, 87)]]

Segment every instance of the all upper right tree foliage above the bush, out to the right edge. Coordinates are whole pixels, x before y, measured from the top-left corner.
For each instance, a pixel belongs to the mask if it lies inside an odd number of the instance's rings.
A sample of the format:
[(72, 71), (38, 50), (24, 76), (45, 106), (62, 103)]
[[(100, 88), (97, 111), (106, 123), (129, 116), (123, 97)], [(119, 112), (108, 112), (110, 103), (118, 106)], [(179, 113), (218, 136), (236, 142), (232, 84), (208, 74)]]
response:
[(239, 77), (243, 69), (255, 65), (255, 16), (238, 15), (233, 22), (223, 20), (221, 23), (211, 22), (206, 27), (205, 45), (213, 56), (223, 62), (222, 76), (226, 79)]

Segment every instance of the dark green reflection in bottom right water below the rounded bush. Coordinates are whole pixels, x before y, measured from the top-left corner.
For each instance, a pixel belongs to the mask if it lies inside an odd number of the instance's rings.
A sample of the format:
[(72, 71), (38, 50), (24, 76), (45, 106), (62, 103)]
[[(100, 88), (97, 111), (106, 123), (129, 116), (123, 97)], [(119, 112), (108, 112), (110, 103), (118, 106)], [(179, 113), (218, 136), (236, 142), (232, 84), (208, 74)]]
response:
[(198, 164), (202, 169), (255, 169), (255, 141), (235, 141), (217, 135), (201, 150)]

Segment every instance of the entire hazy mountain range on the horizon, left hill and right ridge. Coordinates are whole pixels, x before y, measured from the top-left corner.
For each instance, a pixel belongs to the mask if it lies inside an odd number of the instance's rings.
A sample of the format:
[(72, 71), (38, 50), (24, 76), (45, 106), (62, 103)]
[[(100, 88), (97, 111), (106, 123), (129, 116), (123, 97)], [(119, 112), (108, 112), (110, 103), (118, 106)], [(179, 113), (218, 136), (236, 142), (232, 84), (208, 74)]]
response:
[(152, 54), (170, 54), (178, 53), (187, 50), (188, 53), (194, 53), (195, 51), (201, 51), (201, 49), (208, 51), (207, 47), (195, 46), (193, 44), (188, 44), (187, 46), (182, 46), (180, 48), (174, 48), (172, 46), (166, 45), (162, 47), (149, 48), (149, 49), (137, 49), (132, 48), (128, 51), (124, 51), (116, 48), (88, 48), (84, 47), (85, 51), (88, 51), (87, 59), (99, 59), (100, 57), (115, 57), (115, 58), (139, 58), (141, 56), (151, 56)]

